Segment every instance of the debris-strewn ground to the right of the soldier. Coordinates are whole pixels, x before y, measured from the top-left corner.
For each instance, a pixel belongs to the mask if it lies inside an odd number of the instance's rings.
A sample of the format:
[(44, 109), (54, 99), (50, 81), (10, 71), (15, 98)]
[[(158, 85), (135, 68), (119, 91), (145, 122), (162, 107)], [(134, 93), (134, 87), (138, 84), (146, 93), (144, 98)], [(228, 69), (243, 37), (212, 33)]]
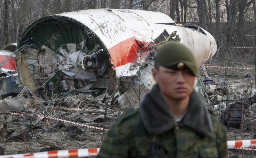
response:
[[(211, 65), (218, 66), (228, 66), (228, 67), (242, 67), (242, 68), (255, 68), (253, 65), (242, 65), (234, 64), (227, 65), (227, 63), (217, 63)], [(207, 65), (206, 65), (207, 66)], [(203, 70), (200, 70), (200, 74), (203, 74)], [(223, 123), (227, 129), (227, 139), (228, 140), (249, 140), (255, 139), (255, 114), (256, 107), (255, 102), (255, 70), (244, 70), (244, 69), (227, 69), (227, 68), (206, 68), (208, 76), (214, 80), (216, 84), (216, 89), (214, 90), (215, 94), (208, 96), (211, 100), (209, 103), (209, 110), (214, 112), (220, 119), (223, 120)], [(206, 86), (209, 88), (209, 86)], [(210, 89), (210, 88), (209, 88)], [(206, 90), (206, 92), (209, 90)], [(212, 92), (210, 90), (210, 92)], [(217, 103), (217, 104), (214, 104)], [(241, 104), (242, 105), (239, 105)], [(214, 105), (213, 105), (214, 104)], [(232, 127), (232, 124), (228, 126), (228, 116), (232, 114), (238, 116), (238, 113), (232, 112), (230, 109), (231, 106), (244, 107), (240, 108), (241, 118), (237, 118), (240, 122), (239, 126), (234, 124), (235, 128)], [(230, 114), (228, 115), (228, 112)], [(228, 116), (227, 116), (228, 115)], [(236, 122), (237, 123), (237, 122)], [(249, 150), (237, 150), (229, 149), (230, 158), (252, 158), (255, 157), (254, 154)]]

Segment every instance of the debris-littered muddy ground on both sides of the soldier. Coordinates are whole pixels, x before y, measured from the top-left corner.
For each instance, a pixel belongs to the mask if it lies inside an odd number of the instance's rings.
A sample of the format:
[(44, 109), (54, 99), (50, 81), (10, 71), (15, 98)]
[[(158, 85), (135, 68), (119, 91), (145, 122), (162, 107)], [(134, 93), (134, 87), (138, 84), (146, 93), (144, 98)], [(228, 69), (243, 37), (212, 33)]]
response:
[[(244, 67), (254, 68), (251, 65)], [(254, 71), (200, 68), (201, 76), (204, 76), (205, 71), (213, 80), (213, 83), (205, 88), (209, 95), (205, 96), (205, 102), (209, 110), (219, 116), (226, 125), (230, 105), (236, 104), (236, 101), (246, 103), (242, 105), (245, 107), (240, 127), (227, 127), (228, 140), (253, 139), (256, 118), (255, 104), (252, 102), (252, 96), (255, 94)], [(108, 128), (108, 125), (126, 109), (118, 105), (118, 96), (95, 96), (96, 94), (73, 93), (64, 98), (42, 100), (40, 97), (21, 94), (14, 99), (2, 98), (0, 155), (100, 147), (105, 131), (46, 118), (51, 116)], [(12, 115), (11, 112), (23, 115)], [(43, 118), (38, 115), (43, 115)], [(233, 149), (229, 150), (229, 155), (231, 158), (253, 156), (251, 151)]]

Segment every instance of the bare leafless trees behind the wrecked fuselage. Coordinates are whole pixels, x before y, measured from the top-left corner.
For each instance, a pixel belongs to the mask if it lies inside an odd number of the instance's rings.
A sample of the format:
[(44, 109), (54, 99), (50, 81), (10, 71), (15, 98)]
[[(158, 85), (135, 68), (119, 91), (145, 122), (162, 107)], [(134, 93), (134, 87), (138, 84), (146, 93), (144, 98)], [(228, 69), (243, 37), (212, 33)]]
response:
[[(254, 64), (256, 0), (0, 0), (0, 48), (18, 42), (32, 22), (44, 16), (94, 8), (162, 12), (176, 23), (198, 24), (216, 39), (223, 56)], [(239, 48), (237, 48), (239, 47)], [(241, 48), (242, 47), (242, 48)], [(244, 48), (250, 47), (250, 48)]]

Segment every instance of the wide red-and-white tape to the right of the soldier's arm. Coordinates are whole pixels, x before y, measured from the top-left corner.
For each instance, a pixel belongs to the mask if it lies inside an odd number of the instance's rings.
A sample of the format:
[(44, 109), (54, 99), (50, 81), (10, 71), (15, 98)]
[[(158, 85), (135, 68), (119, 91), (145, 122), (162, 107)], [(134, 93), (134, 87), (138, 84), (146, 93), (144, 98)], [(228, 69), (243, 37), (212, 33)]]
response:
[(256, 139), (252, 140), (229, 140), (227, 141), (227, 146), (231, 148), (250, 148), (256, 147)]

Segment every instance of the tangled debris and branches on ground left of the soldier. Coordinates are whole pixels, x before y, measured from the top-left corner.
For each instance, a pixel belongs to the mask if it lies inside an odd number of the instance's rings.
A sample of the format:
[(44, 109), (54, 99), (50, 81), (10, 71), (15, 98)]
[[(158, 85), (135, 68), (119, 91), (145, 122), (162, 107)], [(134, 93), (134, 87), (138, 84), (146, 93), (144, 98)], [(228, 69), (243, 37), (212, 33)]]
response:
[(17, 153), (21, 142), (30, 152), (98, 146), (107, 123), (125, 111), (117, 104), (109, 106), (112, 100), (107, 94), (93, 97), (90, 92), (51, 100), (27, 94), (4, 98), (0, 100), (0, 138), (8, 145), (0, 149), (4, 154)]

